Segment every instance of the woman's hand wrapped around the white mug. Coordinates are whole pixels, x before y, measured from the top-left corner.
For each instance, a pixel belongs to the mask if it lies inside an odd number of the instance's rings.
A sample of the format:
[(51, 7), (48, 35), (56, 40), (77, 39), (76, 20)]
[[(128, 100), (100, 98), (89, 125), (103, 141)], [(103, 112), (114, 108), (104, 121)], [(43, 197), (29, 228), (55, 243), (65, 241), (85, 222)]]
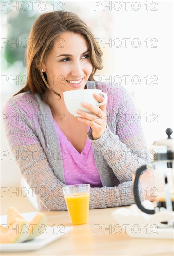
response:
[[(94, 94), (94, 98), (100, 102), (103, 102), (103, 97), (100, 94)], [(99, 107), (83, 102), (82, 106), (93, 114), (87, 113), (86, 111), (77, 110), (77, 113), (80, 115), (78, 120), (89, 125), (92, 128), (92, 136), (94, 140), (99, 139), (105, 132), (107, 127), (106, 122), (106, 104)]]

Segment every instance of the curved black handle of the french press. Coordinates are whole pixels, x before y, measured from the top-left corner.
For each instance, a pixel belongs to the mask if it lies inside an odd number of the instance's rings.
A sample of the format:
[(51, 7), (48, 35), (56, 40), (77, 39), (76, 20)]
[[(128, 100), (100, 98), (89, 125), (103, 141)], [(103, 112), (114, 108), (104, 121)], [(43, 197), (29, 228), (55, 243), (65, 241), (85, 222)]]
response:
[(139, 181), (139, 177), (140, 177), (142, 171), (144, 171), (146, 169), (147, 169), (147, 166), (143, 165), (140, 168), (138, 168), (137, 171), (136, 171), (135, 180), (134, 180), (134, 199), (135, 199), (135, 202), (136, 202), (138, 208), (142, 212), (145, 212), (147, 214), (154, 214), (155, 213), (154, 210), (148, 210), (148, 209), (144, 208), (144, 206), (142, 206), (141, 201), (140, 201), (140, 197), (138, 195), (138, 181)]

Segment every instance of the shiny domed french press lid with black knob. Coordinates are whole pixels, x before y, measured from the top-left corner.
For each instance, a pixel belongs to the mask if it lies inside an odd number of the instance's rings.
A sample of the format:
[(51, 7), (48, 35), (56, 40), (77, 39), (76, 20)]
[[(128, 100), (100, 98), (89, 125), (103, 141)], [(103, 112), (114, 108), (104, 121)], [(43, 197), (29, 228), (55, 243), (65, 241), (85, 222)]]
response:
[(166, 129), (167, 139), (154, 141), (150, 148), (153, 155), (152, 162), (161, 160), (174, 160), (174, 139), (171, 138), (172, 129)]

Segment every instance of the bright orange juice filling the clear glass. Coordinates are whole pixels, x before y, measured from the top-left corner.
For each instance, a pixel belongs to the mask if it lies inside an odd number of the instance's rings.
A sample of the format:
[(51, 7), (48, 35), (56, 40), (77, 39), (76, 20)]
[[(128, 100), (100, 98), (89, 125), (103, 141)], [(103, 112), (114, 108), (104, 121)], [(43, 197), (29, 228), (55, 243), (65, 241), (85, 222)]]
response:
[(89, 216), (89, 193), (65, 195), (67, 209), (73, 225), (86, 224)]

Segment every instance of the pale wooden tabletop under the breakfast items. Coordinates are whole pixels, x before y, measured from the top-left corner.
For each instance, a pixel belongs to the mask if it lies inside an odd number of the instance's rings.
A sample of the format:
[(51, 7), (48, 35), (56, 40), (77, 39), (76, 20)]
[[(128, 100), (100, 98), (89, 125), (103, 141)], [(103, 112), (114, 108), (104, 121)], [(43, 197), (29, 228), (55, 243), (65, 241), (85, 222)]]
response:
[[(173, 240), (161, 239), (135, 239), (130, 238), (124, 231), (120, 234), (110, 232), (117, 224), (111, 213), (118, 208), (94, 209), (89, 212), (89, 223), (73, 226), (74, 228), (65, 236), (48, 244), (47, 246), (30, 252), (1, 253), (1, 256), (173, 256)], [(62, 224), (71, 226), (68, 212), (44, 211), (47, 215), (48, 226)], [(101, 227), (95, 230), (95, 225)], [(104, 230), (105, 228), (105, 230)], [(109, 234), (111, 233), (111, 234)]]

